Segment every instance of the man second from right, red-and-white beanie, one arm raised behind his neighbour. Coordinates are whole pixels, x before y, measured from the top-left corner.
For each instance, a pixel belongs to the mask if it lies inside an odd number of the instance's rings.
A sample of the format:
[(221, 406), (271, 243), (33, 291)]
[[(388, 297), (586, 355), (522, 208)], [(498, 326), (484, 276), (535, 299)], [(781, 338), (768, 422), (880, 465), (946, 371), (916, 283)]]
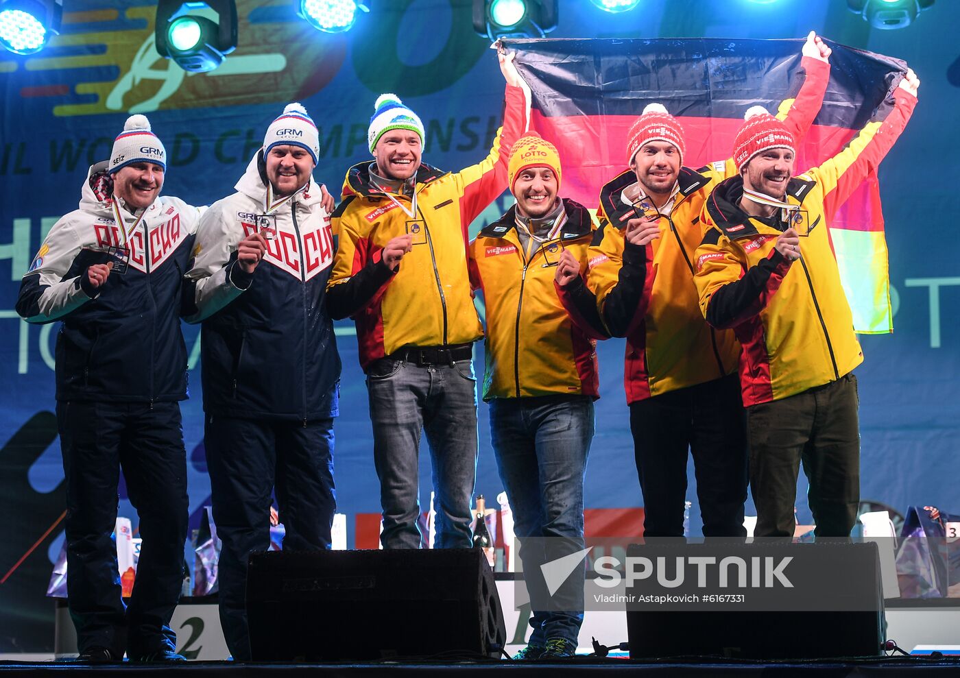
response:
[[(800, 91), (780, 106), (804, 136), (823, 101), (830, 50), (813, 33), (801, 61)], [(700, 211), (732, 160), (682, 166), (684, 131), (658, 104), (631, 130), (630, 169), (600, 192), (600, 230), (589, 251), (588, 286), (605, 327), (627, 338), (624, 382), (644, 534), (684, 534), (687, 450), (693, 455), (707, 537), (742, 537), (747, 448), (732, 331), (709, 327), (693, 284), (703, 237)]]

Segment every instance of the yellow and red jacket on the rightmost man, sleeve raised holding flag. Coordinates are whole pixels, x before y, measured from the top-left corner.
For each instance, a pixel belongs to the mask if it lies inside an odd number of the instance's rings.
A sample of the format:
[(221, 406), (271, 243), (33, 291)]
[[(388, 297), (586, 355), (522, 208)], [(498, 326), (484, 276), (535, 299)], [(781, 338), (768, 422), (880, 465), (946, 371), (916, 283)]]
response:
[[(917, 104), (900, 89), (834, 157), (787, 184), (790, 223), (739, 208), (743, 180), (720, 183), (702, 214), (708, 229), (697, 249), (700, 307), (713, 327), (732, 327), (743, 345), (743, 404), (780, 400), (847, 375), (863, 360), (850, 304), (830, 247), (837, 208), (893, 146)], [(771, 226), (775, 224), (775, 226)], [(781, 230), (802, 236), (801, 258), (774, 249)]]

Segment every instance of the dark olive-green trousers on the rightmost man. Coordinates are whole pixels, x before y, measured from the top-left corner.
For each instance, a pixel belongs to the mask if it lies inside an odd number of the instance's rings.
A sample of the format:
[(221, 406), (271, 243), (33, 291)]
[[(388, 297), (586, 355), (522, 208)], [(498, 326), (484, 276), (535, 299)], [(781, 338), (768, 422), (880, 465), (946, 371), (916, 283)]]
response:
[(858, 405), (851, 374), (747, 408), (755, 537), (793, 537), (801, 464), (816, 536), (850, 536), (860, 502)]

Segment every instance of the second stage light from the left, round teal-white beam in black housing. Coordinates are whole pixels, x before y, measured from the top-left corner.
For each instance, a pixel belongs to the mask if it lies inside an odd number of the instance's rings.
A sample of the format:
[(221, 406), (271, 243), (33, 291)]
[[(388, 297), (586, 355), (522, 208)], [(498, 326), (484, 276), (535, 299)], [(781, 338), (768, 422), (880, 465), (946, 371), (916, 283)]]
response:
[[(200, 12), (212, 10), (217, 23)], [(185, 71), (212, 71), (237, 46), (234, 0), (159, 0), (156, 4), (156, 52)]]

